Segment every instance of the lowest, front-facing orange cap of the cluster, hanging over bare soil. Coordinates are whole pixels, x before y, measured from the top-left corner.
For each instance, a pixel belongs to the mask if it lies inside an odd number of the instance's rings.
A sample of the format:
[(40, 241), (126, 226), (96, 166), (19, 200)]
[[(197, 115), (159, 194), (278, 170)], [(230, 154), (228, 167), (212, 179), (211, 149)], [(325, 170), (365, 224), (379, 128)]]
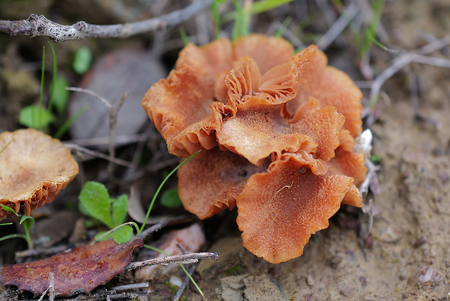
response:
[(303, 253), (311, 234), (328, 227), (353, 179), (315, 175), (292, 154), (254, 174), (236, 200), (243, 245), (271, 263)]

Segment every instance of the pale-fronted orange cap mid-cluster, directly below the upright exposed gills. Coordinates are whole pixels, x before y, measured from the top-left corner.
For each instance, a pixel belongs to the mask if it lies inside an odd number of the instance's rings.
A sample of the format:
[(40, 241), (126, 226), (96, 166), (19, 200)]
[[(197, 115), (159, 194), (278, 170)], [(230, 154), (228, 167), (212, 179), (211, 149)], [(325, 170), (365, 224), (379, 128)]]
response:
[(328, 161), (339, 146), (344, 117), (335, 108), (319, 108), (311, 99), (288, 120), (283, 104), (269, 105), (264, 98), (250, 97), (238, 105), (236, 117), (224, 120), (217, 132), (219, 145), (259, 165), (271, 153), (306, 151)]

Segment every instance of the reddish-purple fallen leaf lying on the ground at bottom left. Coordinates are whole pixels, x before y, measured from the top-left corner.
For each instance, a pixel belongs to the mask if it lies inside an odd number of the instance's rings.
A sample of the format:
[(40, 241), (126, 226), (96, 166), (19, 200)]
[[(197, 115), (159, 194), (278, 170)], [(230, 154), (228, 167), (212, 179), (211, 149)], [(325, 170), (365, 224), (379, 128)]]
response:
[(143, 246), (141, 239), (122, 245), (117, 245), (113, 240), (82, 245), (44, 260), (1, 267), (0, 281), (37, 296), (49, 288), (49, 273), (52, 272), (56, 295), (90, 293), (122, 273), (131, 262), (133, 249), (137, 246)]

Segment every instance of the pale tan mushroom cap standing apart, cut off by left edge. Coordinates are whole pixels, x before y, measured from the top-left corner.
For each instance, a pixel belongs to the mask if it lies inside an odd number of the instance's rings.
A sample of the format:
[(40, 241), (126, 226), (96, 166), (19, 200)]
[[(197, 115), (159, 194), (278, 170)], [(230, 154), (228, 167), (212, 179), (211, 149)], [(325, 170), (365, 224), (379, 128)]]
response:
[[(63, 143), (35, 129), (0, 134), (0, 204), (30, 215), (51, 203), (78, 174), (78, 165)], [(8, 212), (0, 210), (0, 218)]]

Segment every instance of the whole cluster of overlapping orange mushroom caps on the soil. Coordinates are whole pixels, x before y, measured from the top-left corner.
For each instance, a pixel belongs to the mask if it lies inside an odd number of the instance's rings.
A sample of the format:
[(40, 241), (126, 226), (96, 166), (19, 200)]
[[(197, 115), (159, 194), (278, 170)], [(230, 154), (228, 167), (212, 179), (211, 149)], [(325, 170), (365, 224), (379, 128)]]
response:
[(361, 91), (316, 46), (293, 52), (260, 34), (188, 44), (142, 101), (169, 153), (203, 150), (178, 172), (186, 210), (237, 206), (243, 245), (272, 263), (302, 255), (341, 203), (361, 207), (367, 172)]

